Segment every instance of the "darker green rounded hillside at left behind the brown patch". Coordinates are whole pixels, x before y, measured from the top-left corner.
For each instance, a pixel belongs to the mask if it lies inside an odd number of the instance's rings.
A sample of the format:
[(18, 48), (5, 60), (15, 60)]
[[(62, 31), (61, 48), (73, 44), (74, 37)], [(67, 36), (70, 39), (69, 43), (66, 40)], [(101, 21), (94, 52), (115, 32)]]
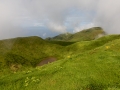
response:
[(0, 66), (5, 67), (17, 63), (35, 66), (43, 58), (64, 56), (62, 46), (51, 44), (39, 37), (24, 37), (0, 41)]

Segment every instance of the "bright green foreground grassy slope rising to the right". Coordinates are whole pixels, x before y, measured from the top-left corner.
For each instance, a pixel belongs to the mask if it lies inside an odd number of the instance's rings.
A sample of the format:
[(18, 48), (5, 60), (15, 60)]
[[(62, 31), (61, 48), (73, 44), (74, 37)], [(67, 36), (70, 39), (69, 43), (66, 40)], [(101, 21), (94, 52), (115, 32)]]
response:
[(72, 48), (77, 54), (2, 76), (0, 90), (120, 90), (119, 47), (120, 35), (66, 46), (64, 49)]

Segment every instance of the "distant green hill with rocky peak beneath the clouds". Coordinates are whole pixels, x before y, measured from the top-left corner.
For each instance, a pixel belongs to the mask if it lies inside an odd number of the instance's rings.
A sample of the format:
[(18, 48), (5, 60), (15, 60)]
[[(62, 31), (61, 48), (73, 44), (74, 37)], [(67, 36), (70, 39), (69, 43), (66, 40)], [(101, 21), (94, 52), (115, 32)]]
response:
[(85, 29), (80, 32), (70, 34), (70, 33), (65, 33), (65, 34), (60, 34), (58, 36), (55, 36), (53, 38), (46, 38), (46, 40), (50, 41), (90, 41), (97, 39), (101, 36), (105, 35), (105, 32), (103, 31), (102, 28), (100, 27), (93, 27), (90, 29)]

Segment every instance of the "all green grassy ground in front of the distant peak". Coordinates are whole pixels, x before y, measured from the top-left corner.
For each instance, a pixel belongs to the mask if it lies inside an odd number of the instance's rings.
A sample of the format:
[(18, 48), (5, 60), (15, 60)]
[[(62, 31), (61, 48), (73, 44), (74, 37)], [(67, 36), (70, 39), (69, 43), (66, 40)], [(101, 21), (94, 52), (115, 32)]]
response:
[[(0, 90), (120, 90), (119, 47), (120, 35), (80, 42), (2, 40)], [(58, 60), (36, 67), (49, 56)]]

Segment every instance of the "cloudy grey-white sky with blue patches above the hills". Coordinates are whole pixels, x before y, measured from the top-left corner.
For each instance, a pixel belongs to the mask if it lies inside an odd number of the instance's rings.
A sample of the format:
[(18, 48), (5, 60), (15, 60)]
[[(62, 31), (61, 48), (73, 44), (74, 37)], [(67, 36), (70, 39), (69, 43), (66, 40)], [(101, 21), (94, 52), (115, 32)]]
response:
[(102, 27), (120, 33), (120, 0), (0, 0), (0, 39), (76, 33)]

